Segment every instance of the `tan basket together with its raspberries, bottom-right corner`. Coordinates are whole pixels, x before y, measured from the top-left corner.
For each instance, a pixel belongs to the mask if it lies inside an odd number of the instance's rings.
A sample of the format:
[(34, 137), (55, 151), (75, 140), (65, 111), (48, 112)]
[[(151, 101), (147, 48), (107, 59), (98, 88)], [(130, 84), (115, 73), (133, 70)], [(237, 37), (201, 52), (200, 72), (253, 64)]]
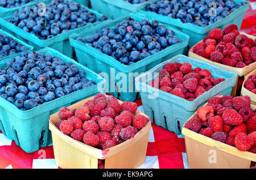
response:
[[(197, 157), (189, 157), (191, 151), (196, 151), (193, 148), (198, 148), (189, 145), (191, 141), (200, 142), (201, 148), (216, 149), (217, 157), (220, 158), (222, 153), (226, 160), (217, 160), (223, 164), (217, 167), (222, 168), (250, 168), (250, 161), (256, 161), (256, 113), (250, 108), (251, 100), (249, 96), (232, 97), (229, 95), (217, 95), (209, 98), (207, 104), (197, 109), (197, 112), (192, 115), (185, 123), (182, 133), (185, 135), (186, 149), (188, 153), (188, 163), (191, 163), (189, 168), (193, 168), (199, 161), (192, 162), (191, 159)], [(208, 151), (200, 151), (198, 156), (204, 156)], [(228, 158), (229, 156), (233, 157)], [(197, 156), (197, 155), (196, 155)], [(209, 155), (208, 155), (209, 156)], [(248, 160), (238, 163), (239, 158)], [(236, 164), (231, 165), (234, 161)], [(219, 162), (218, 162), (219, 161)], [(212, 168), (210, 162), (205, 163), (204, 168)], [(227, 166), (225, 166), (227, 165)], [(198, 166), (197, 166), (198, 167)]]

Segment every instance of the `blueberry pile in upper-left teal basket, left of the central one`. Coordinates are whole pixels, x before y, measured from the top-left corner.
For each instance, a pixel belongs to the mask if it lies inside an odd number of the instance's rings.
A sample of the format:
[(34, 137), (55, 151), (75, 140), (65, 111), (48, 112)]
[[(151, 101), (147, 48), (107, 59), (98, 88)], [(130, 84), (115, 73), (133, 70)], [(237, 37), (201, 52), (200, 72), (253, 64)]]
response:
[(20, 8), (7, 21), (34, 34), (40, 40), (46, 40), (60, 33), (108, 19), (106, 16), (97, 18), (79, 3), (67, 0), (52, 0), (46, 5), (45, 15), (43, 11), (42, 14), (38, 13), (40, 9), (39, 2), (36, 2), (32, 7)]

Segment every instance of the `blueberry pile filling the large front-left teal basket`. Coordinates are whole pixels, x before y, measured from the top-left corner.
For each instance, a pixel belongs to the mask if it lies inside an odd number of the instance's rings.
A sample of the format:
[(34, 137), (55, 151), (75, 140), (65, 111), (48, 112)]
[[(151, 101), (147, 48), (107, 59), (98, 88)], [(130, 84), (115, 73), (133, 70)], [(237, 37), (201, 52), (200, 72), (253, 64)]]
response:
[(95, 84), (73, 63), (41, 52), (22, 52), (0, 68), (0, 95), (20, 110)]

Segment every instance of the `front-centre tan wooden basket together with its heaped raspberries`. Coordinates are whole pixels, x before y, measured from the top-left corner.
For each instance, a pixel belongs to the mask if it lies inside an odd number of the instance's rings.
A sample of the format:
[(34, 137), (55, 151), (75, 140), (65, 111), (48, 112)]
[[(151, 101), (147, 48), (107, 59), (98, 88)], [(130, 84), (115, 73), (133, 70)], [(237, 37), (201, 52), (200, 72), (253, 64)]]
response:
[(137, 168), (144, 162), (151, 120), (135, 102), (99, 93), (61, 108), (49, 121), (61, 168)]

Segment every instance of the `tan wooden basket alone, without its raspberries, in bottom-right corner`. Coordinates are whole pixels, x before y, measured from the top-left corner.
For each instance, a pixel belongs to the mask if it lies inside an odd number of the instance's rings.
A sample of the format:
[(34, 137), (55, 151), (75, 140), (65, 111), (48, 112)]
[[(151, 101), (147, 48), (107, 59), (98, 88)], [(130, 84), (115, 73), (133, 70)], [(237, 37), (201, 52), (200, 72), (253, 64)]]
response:
[[(196, 113), (191, 118), (195, 115)], [(185, 136), (189, 168), (247, 169), (250, 168), (251, 161), (256, 161), (256, 154), (254, 153), (240, 151), (236, 147), (208, 138), (184, 126), (182, 134)]]

